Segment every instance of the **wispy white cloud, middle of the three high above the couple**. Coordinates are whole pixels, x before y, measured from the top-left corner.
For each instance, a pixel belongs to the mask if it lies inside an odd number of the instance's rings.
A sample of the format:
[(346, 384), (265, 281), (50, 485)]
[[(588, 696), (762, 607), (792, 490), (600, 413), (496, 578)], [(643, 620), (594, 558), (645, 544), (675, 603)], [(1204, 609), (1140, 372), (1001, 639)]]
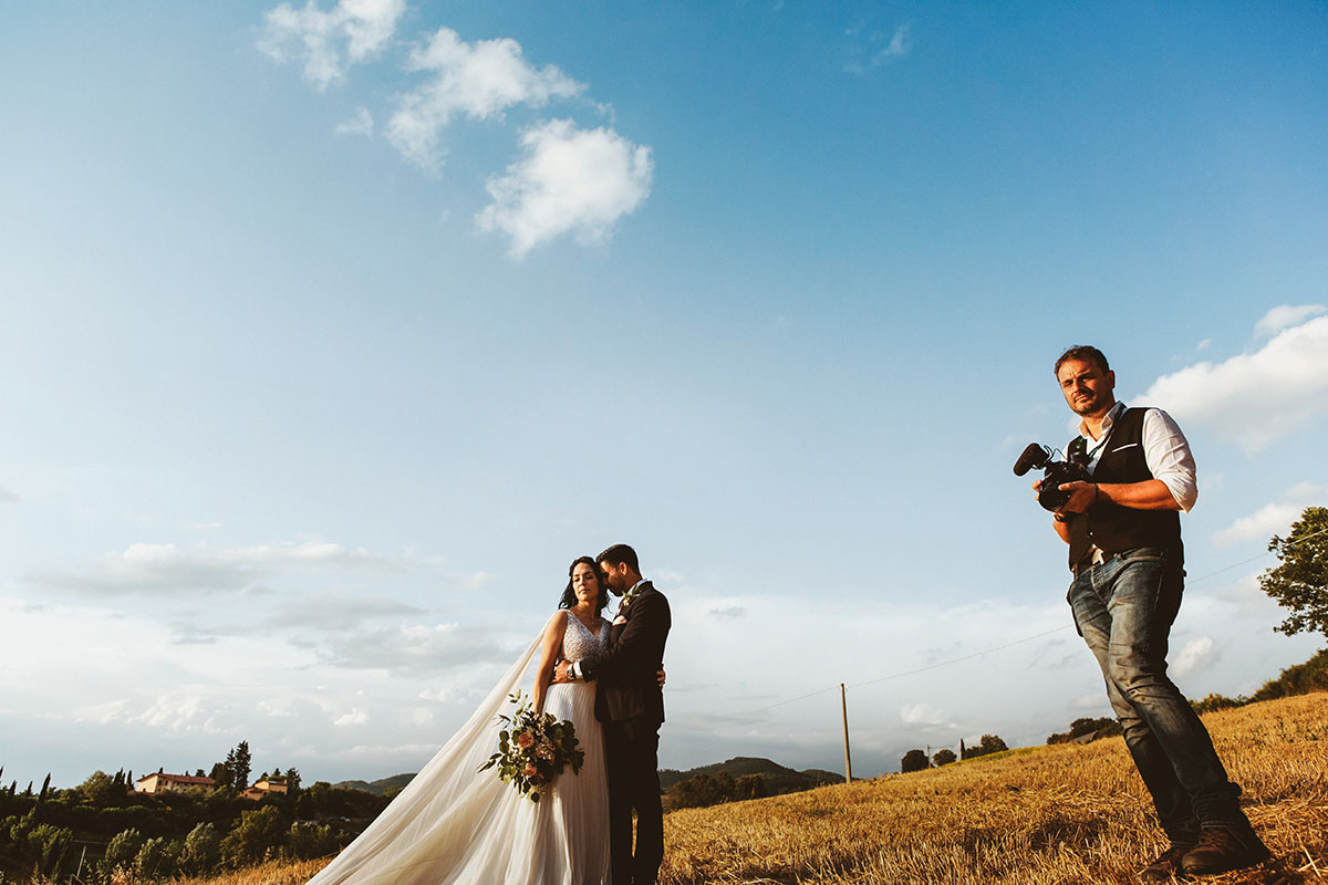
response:
[(438, 133), (454, 115), (487, 119), (515, 105), (543, 107), (586, 89), (554, 65), (534, 68), (511, 38), (463, 41), (440, 28), (428, 45), (410, 53), (409, 70), (433, 73), (405, 93), (388, 121), (388, 141), (402, 157), (429, 172), (438, 169)]

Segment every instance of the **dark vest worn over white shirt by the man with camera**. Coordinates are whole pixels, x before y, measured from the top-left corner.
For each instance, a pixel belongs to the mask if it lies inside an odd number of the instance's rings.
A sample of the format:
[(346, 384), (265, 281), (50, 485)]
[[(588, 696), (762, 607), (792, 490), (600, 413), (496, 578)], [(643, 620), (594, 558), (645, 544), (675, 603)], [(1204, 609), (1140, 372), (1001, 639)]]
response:
[[(1110, 439), (1093, 468), (1094, 483), (1142, 483), (1154, 479), (1143, 456), (1143, 413), (1126, 409), (1112, 426)], [(1131, 510), (1098, 502), (1086, 513), (1072, 513), (1070, 571), (1088, 557), (1089, 547), (1104, 553), (1120, 553), (1135, 547), (1163, 547), (1178, 561), (1185, 560), (1181, 544), (1181, 515), (1174, 510)]]

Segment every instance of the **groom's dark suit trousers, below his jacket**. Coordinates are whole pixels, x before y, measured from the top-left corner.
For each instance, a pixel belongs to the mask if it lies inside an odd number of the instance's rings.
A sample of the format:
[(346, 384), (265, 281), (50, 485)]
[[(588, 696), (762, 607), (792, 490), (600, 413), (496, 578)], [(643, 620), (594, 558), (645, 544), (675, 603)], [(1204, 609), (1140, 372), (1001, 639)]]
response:
[[(608, 843), (614, 885), (653, 885), (664, 860), (660, 807), (660, 723), (636, 716), (604, 723), (608, 762)], [(632, 851), (632, 812), (636, 851)]]

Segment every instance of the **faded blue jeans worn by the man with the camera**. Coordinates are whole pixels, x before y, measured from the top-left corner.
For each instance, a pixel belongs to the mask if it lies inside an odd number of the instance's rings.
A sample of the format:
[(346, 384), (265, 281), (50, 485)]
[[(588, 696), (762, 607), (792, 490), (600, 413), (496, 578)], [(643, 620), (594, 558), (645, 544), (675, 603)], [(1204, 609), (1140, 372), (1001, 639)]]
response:
[(1080, 636), (1106, 679), (1125, 746), (1174, 843), (1201, 827), (1248, 827), (1212, 739), (1166, 675), (1167, 637), (1181, 608), (1185, 571), (1166, 549), (1139, 547), (1093, 565), (1066, 600)]

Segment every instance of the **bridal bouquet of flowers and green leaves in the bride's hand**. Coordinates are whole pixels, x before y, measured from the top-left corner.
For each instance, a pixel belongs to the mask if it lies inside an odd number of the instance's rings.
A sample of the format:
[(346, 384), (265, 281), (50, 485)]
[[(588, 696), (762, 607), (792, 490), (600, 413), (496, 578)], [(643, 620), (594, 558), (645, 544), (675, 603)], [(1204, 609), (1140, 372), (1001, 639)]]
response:
[(506, 723), (498, 732), (498, 752), (489, 756), (479, 771), (497, 766), (498, 778), (530, 796), (530, 801), (539, 801), (539, 795), (564, 766), (571, 764), (572, 772), (580, 771), (586, 751), (571, 722), (559, 722), (550, 713), (537, 715), (530, 701), (522, 701), (521, 691), (509, 699), (517, 705), (517, 711), (510, 716), (498, 715), (498, 720)]

